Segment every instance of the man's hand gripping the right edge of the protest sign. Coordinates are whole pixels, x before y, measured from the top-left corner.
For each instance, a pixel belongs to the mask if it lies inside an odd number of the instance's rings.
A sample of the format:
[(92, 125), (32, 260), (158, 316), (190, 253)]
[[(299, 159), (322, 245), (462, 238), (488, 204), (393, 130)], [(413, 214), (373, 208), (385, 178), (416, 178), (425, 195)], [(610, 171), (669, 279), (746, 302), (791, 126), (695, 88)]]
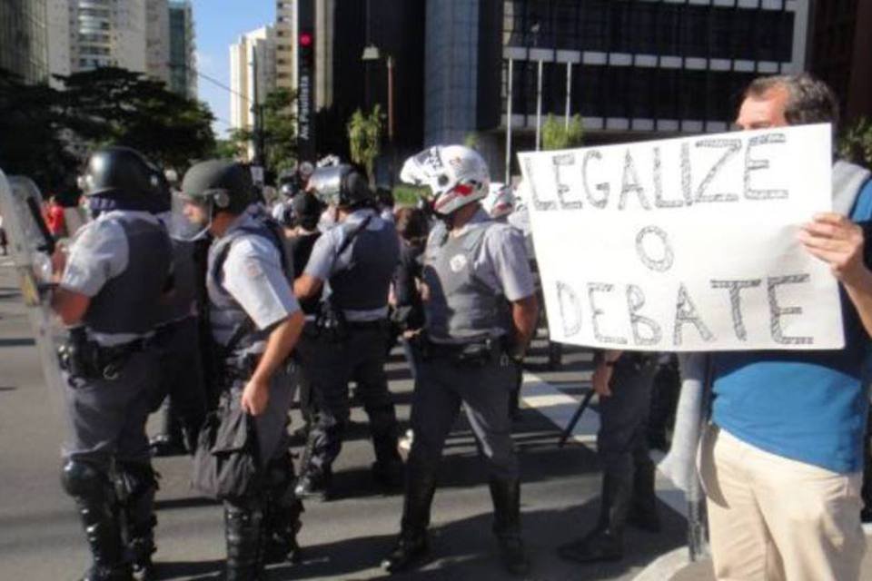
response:
[(829, 264), (833, 275), (846, 285), (856, 286), (866, 280), (863, 263), (863, 230), (845, 216), (834, 212), (819, 213), (798, 233), (798, 239), (811, 254)]

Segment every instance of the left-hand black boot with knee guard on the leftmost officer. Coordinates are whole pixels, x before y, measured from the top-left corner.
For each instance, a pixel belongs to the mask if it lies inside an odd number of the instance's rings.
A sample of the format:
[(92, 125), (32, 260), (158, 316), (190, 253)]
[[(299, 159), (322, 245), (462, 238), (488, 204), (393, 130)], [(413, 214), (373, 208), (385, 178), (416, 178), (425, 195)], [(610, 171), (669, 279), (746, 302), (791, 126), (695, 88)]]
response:
[(82, 518), (94, 565), (83, 581), (131, 581), (131, 566), (124, 558), (114, 488), (98, 468), (72, 460), (64, 466), (61, 482)]

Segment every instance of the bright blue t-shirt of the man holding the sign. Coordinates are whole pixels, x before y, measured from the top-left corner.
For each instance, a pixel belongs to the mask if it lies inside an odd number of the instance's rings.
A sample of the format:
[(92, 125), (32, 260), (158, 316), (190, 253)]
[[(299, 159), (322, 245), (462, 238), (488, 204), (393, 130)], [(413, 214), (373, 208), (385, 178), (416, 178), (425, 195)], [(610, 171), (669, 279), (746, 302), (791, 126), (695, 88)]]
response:
[[(872, 217), (872, 182), (851, 218)], [(713, 356), (713, 421), (778, 456), (846, 474), (863, 468), (870, 343), (839, 288), (845, 349), (735, 351)]]

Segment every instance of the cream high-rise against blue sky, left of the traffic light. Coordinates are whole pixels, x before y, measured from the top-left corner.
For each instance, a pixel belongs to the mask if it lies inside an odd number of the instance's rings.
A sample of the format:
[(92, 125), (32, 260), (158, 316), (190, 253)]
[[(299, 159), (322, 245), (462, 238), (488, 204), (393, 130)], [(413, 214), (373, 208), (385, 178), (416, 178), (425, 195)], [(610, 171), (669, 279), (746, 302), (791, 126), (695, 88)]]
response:
[(254, 126), (255, 103), (275, 88), (275, 29), (264, 26), (230, 46), (230, 122), (234, 129)]

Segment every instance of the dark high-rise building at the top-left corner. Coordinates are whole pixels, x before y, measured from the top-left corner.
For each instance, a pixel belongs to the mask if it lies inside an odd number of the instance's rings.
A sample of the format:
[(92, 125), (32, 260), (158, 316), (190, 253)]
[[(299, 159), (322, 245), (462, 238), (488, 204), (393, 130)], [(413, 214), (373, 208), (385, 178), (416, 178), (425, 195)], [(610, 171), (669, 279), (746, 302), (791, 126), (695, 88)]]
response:
[(0, 68), (21, 76), (25, 83), (45, 81), (47, 38), (45, 0), (0, 2)]

